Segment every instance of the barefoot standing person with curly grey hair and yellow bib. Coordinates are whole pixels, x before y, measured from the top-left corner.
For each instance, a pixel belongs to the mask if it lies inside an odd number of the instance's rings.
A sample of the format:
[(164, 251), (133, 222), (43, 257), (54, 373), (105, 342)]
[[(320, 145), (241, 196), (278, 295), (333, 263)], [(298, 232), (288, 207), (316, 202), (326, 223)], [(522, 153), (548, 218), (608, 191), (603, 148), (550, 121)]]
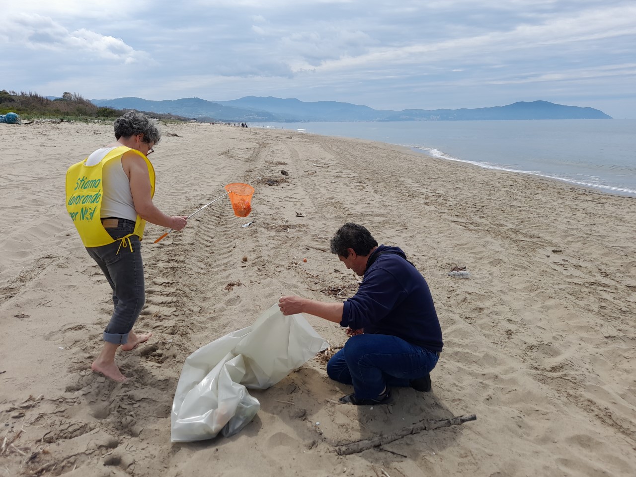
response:
[(130, 351), (152, 335), (132, 331), (146, 300), (140, 243), (146, 221), (181, 230), (186, 218), (167, 216), (153, 204), (155, 170), (148, 156), (161, 139), (157, 121), (130, 111), (114, 121), (114, 134), (116, 142), (69, 167), (66, 208), (113, 289), (104, 348), (91, 368), (123, 382), (127, 378), (114, 362), (117, 348)]

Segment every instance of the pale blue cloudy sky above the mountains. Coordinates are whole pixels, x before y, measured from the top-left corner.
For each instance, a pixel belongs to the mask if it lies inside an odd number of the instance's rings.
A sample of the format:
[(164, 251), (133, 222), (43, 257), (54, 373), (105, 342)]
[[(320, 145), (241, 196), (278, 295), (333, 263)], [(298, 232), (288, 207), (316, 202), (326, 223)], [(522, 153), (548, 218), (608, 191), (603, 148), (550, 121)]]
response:
[(0, 89), (636, 118), (635, 0), (1, 0)]

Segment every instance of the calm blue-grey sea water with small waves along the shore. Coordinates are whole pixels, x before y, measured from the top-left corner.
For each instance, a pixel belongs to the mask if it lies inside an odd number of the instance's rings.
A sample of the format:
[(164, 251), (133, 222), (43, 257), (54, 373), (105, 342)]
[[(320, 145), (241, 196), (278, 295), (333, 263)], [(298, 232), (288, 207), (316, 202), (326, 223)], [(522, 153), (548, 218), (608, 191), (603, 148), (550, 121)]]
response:
[(636, 120), (252, 123), (407, 146), (427, 156), (636, 197)]

